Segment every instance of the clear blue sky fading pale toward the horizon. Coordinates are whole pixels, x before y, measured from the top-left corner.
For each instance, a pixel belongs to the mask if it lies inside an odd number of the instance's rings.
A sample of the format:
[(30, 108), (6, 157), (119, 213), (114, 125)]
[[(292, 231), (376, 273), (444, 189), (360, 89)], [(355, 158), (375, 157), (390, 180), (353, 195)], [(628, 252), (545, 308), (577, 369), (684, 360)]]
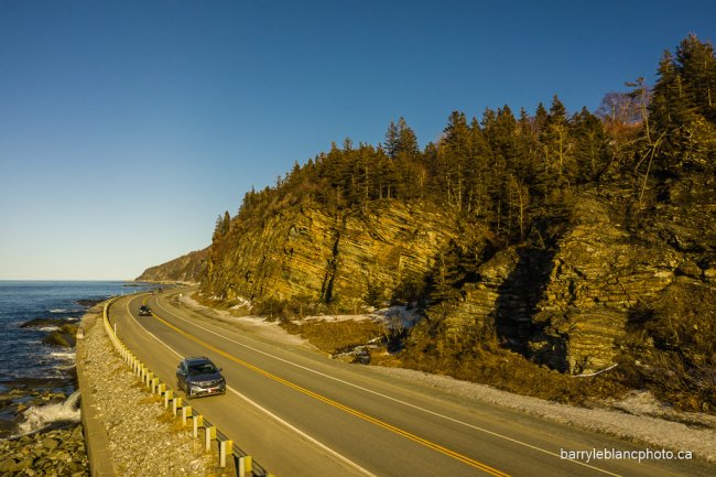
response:
[(332, 141), (594, 111), (688, 33), (716, 2), (0, 0), (0, 279), (133, 279)]

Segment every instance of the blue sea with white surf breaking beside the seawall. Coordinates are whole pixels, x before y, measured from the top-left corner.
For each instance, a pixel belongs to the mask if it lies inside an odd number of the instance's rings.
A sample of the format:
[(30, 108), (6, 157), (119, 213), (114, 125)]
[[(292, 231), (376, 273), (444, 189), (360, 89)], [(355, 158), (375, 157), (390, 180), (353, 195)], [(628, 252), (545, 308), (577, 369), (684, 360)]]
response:
[[(43, 338), (64, 323), (78, 323), (94, 303), (152, 286), (0, 280), (0, 438), (36, 432), (56, 420), (78, 419), (75, 348), (45, 345)], [(22, 326), (29, 322), (34, 324)], [(41, 393), (54, 393), (55, 399), (41, 405)], [(56, 402), (58, 395), (65, 395), (65, 402)]]

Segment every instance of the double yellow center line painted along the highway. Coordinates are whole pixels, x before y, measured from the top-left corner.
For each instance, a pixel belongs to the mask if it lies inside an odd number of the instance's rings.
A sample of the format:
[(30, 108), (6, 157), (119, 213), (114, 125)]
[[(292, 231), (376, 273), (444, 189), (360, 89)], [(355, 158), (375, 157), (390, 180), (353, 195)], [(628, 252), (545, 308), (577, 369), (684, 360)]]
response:
[(271, 373), (269, 371), (265, 371), (265, 370), (263, 370), (263, 369), (261, 369), (261, 368), (259, 368), (259, 367), (257, 367), (254, 365), (251, 365), (250, 362), (247, 362), (247, 361), (245, 361), (245, 360), (242, 360), (240, 358), (237, 358), (237, 357), (235, 357), (232, 355), (229, 355), (228, 353), (226, 353), (226, 351), (224, 351), (224, 350), (221, 350), (221, 349), (219, 349), (219, 348), (217, 348), (215, 346), (209, 345), (208, 343), (195, 337), (194, 335), (185, 332), (184, 329), (181, 329), (181, 328), (174, 326), (173, 324), (171, 324), (167, 321), (165, 321), (164, 318), (158, 316), (153, 312), (152, 312), (152, 316), (154, 316), (156, 319), (159, 319), (161, 323), (163, 323), (167, 327), (172, 328), (176, 333), (185, 336), (186, 338), (188, 338), (188, 339), (191, 339), (191, 340), (193, 340), (193, 342), (195, 342), (195, 343), (197, 343), (197, 344), (213, 350), (214, 353), (217, 353), (218, 355), (224, 356), (227, 359), (232, 360), (234, 362), (236, 362), (238, 365), (241, 365), (241, 366), (243, 366), (243, 367), (246, 367), (248, 369), (251, 369), (252, 371), (258, 372), (259, 375), (265, 376), (267, 378), (270, 378), (270, 379), (272, 379), (272, 380), (274, 380), (276, 382), (280, 382), (280, 383), (284, 384), (284, 386), (288, 386), (289, 388), (295, 389), (299, 392), (302, 392), (302, 393), (304, 393), (306, 395), (310, 395), (310, 397), (312, 397), (314, 399), (317, 399), (318, 401), (325, 402), (326, 404), (329, 404), (329, 405), (332, 405), (332, 406), (334, 406), (336, 409), (345, 411), (345, 412), (347, 412), (349, 414), (352, 414), (352, 415), (355, 415), (357, 418), (362, 419), (364, 421), (376, 424), (376, 425), (378, 425), (380, 427), (383, 427), (383, 429), (386, 429), (388, 431), (391, 431), (391, 432), (393, 432), (393, 433), (395, 433), (398, 435), (401, 435), (401, 436), (403, 436), (405, 438), (409, 438), (409, 440), (411, 440), (413, 442), (416, 442), (417, 444), (422, 444), (425, 447), (432, 448), (433, 451), (437, 451), (437, 452), (440, 452), (440, 453), (442, 453), (442, 454), (444, 454), (444, 455), (446, 455), (448, 457), (453, 457), (454, 459), (457, 459), (457, 460), (459, 460), (459, 462), (462, 462), (464, 464), (467, 464), (467, 465), (469, 465), (471, 467), (478, 468), (478, 469), (480, 469), (482, 471), (486, 471), (486, 473), (488, 473), (490, 475), (499, 476), (499, 477), (510, 477), (508, 474), (505, 474), (501, 470), (492, 468), (492, 467), (488, 466), (487, 464), (482, 464), (479, 460), (475, 460), (474, 458), (467, 457), (467, 456), (465, 456), (463, 454), (459, 454), (459, 453), (457, 453), (455, 451), (451, 451), (449, 448), (443, 447), (440, 444), (427, 441), (427, 440), (425, 440), (423, 437), (420, 437), (420, 436), (417, 436), (415, 434), (412, 434), (412, 433), (410, 433), (408, 431), (404, 431), (404, 430), (402, 430), (400, 427), (397, 427), (397, 426), (394, 426), (392, 424), (389, 424), (389, 423), (387, 423), (384, 421), (381, 421), (381, 420), (379, 420), (377, 418), (373, 418), (373, 416), (368, 415), (368, 414), (366, 414), (364, 412), (360, 412), (358, 410), (349, 408), (349, 406), (347, 406), (345, 404), (341, 404), (341, 403), (339, 403), (337, 401), (334, 401), (330, 398), (326, 398), (325, 395), (318, 394), (317, 392), (311, 391), (310, 389), (303, 388), (303, 387), (301, 387), (301, 386), (299, 386), (296, 383), (293, 383), (293, 382), (291, 382), (291, 381), (289, 381), (289, 380), (286, 380), (284, 378), (281, 378), (281, 377), (279, 377), (276, 375), (273, 375), (273, 373)]

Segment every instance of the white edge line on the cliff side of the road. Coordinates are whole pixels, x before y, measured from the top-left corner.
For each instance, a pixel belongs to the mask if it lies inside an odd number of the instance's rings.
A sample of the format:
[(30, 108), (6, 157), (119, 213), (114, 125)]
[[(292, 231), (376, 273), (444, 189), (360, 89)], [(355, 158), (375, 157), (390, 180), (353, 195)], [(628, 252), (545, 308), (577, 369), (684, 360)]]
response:
[[(156, 304), (158, 304), (158, 306), (159, 306), (160, 308), (162, 308), (164, 312), (169, 313), (170, 315), (174, 316), (175, 318), (178, 318), (178, 319), (181, 319), (181, 321), (183, 321), (183, 322), (185, 322), (185, 323), (187, 323), (187, 324), (189, 324), (189, 325), (192, 325), (192, 326), (195, 326), (195, 327), (197, 327), (197, 328), (199, 328), (199, 329), (203, 329), (203, 330), (205, 330), (205, 332), (207, 332), (207, 333), (210, 333), (210, 334), (213, 334), (213, 335), (215, 335), (215, 336), (218, 336), (218, 337), (220, 337), (220, 338), (223, 338), (223, 339), (226, 339), (226, 340), (229, 342), (229, 343), (232, 343), (232, 344), (235, 344), (235, 345), (239, 345), (239, 346), (245, 347), (245, 348), (247, 348), (247, 349), (250, 349), (250, 350), (252, 350), (252, 351), (259, 353), (259, 354), (261, 354), (261, 355), (263, 355), (263, 356), (268, 356), (268, 357), (270, 357), (270, 358), (276, 359), (276, 360), (279, 360), (279, 361), (281, 361), (281, 362), (285, 362), (285, 364), (288, 364), (288, 365), (292, 365), (292, 366), (294, 366), (294, 367), (296, 367), (296, 368), (303, 369), (303, 370), (305, 370), (305, 371), (313, 372), (313, 373), (318, 375), (318, 376), (322, 376), (322, 377), (324, 377), (324, 378), (332, 379), (332, 380), (334, 380), (334, 381), (340, 382), (340, 383), (346, 384), (346, 386), (350, 386), (350, 387), (356, 388), (356, 389), (359, 389), (359, 390), (361, 390), (361, 391), (365, 391), (365, 392), (368, 392), (368, 393), (371, 393), (371, 394), (375, 394), (375, 395), (379, 395), (379, 397), (381, 397), (381, 398), (383, 398), (383, 399), (387, 399), (387, 400), (390, 400), (390, 401), (397, 402), (397, 403), (399, 403), (399, 404), (403, 404), (403, 405), (406, 405), (406, 406), (409, 406), (409, 408), (412, 408), (412, 409), (415, 409), (415, 410), (419, 410), (419, 411), (425, 412), (425, 413), (431, 414), (431, 415), (434, 415), (434, 416), (436, 416), (436, 418), (441, 418), (441, 419), (444, 419), (444, 420), (446, 420), (446, 421), (451, 421), (451, 422), (454, 422), (454, 423), (456, 423), (456, 424), (460, 424), (460, 425), (464, 425), (464, 426), (466, 426), (466, 427), (474, 429), (474, 430), (479, 431), (479, 432), (482, 432), (482, 433), (485, 433), (485, 434), (489, 434), (489, 435), (491, 435), (491, 436), (499, 437), (499, 438), (502, 438), (502, 440), (505, 440), (505, 441), (509, 441), (509, 442), (511, 442), (511, 443), (513, 443), (513, 444), (518, 444), (518, 445), (521, 445), (521, 446), (524, 446), (524, 447), (529, 447), (529, 448), (531, 448), (531, 449), (533, 449), (533, 451), (538, 451), (538, 452), (541, 452), (541, 453), (543, 453), (543, 454), (546, 454), (546, 455), (550, 455), (550, 456), (556, 457), (556, 458), (558, 458), (560, 460), (568, 460), (568, 462), (571, 462), (571, 463), (573, 463), (573, 464), (581, 465), (581, 466), (586, 467), (586, 468), (589, 468), (589, 469), (592, 469), (592, 470), (597, 470), (597, 471), (599, 471), (599, 473), (603, 473), (603, 474), (606, 474), (606, 475), (609, 475), (609, 476), (614, 476), (614, 477), (621, 477), (619, 474), (615, 474), (615, 473), (611, 473), (611, 471), (609, 471), (609, 470), (606, 470), (606, 469), (603, 469), (603, 468), (599, 468), (599, 467), (595, 467), (595, 466), (593, 466), (593, 465), (590, 465), (590, 464), (587, 464), (587, 463), (584, 463), (584, 462), (581, 462), (581, 460), (575, 460), (575, 459), (565, 459), (565, 458), (563, 458), (560, 454), (554, 453), (554, 452), (552, 452), (552, 451), (547, 451), (547, 449), (545, 449), (545, 448), (538, 447), (538, 446), (532, 445), (532, 444), (528, 444), (528, 443), (522, 442), (522, 441), (519, 441), (519, 440), (517, 440), (517, 438), (509, 437), (509, 436), (507, 436), (507, 435), (499, 434), (499, 433), (493, 432), (493, 431), (489, 431), (489, 430), (487, 430), (487, 429), (485, 429), (485, 427), (480, 427), (480, 426), (477, 426), (477, 425), (474, 425), (474, 424), (470, 424), (470, 423), (467, 423), (467, 422), (464, 422), (464, 421), (460, 421), (460, 420), (457, 420), (457, 419), (451, 418), (451, 416), (448, 416), (448, 415), (441, 414), (441, 413), (435, 412), (435, 411), (431, 411), (430, 409), (421, 408), (420, 405), (416, 405), (416, 404), (412, 404), (412, 403), (410, 403), (410, 402), (402, 401), (402, 400), (400, 400), (400, 399), (397, 399), (397, 398), (393, 398), (393, 397), (390, 397), (390, 395), (387, 395), (387, 394), (380, 393), (380, 392), (375, 391), (375, 390), (372, 390), (372, 389), (364, 388), (362, 386), (358, 386), (358, 384), (355, 384), (355, 383), (352, 383), (352, 382), (345, 381), (345, 380), (343, 380), (343, 379), (340, 379), (340, 378), (336, 378), (336, 377), (334, 377), (334, 376), (326, 375), (326, 373), (324, 373), (324, 372), (322, 372), (322, 371), (318, 371), (318, 370), (315, 370), (315, 369), (312, 369), (312, 368), (305, 367), (305, 366), (303, 366), (303, 365), (299, 365), (299, 364), (296, 364), (296, 362), (289, 361), (288, 359), (281, 358), (281, 357), (279, 357), (279, 356), (272, 355), (272, 354), (267, 353), (267, 351), (263, 351), (263, 350), (261, 350), (261, 349), (257, 349), (257, 348), (254, 348), (254, 347), (252, 347), (252, 346), (249, 346), (249, 345), (246, 345), (246, 344), (243, 344), (243, 343), (240, 343), (240, 342), (234, 340), (234, 339), (228, 338), (228, 337), (226, 337), (226, 336), (223, 336), (223, 335), (220, 335), (220, 334), (218, 334), (218, 333), (216, 333), (216, 332), (214, 332), (214, 330), (211, 330), (211, 329), (208, 329), (208, 328), (206, 328), (206, 327), (204, 327), (204, 326), (202, 326), (202, 325), (199, 325), (199, 324), (193, 323), (193, 322), (189, 321), (189, 319), (183, 318), (183, 317), (181, 317), (181, 316), (178, 316), (178, 315), (172, 313), (172, 312), (171, 312), (170, 310), (167, 310), (166, 307), (162, 306), (162, 304), (160, 303), (159, 299), (156, 300)], [(186, 336), (192, 336), (192, 335), (186, 335)], [(193, 338), (192, 338), (192, 339), (193, 339)]]

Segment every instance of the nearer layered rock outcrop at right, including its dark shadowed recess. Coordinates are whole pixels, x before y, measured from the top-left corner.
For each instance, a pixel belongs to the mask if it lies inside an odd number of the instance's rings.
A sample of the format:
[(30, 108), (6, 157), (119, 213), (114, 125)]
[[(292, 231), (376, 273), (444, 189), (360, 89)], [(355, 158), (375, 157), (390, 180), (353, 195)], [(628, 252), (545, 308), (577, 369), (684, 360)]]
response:
[[(510, 248), (479, 267), (440, 317), (445, 338), (493, 328), (553, 369), (589, 373), (615, 364), (637, 305), (663, 303), (674, 290), (713, 292), (716, 193), (713, 177), (696, 181), (664, 185), (668, 199), (639, 224), (622, 224), (614, 197), (578, 197), (554, 250)], [(706, 296), (716, 308), (716, 294)]]

